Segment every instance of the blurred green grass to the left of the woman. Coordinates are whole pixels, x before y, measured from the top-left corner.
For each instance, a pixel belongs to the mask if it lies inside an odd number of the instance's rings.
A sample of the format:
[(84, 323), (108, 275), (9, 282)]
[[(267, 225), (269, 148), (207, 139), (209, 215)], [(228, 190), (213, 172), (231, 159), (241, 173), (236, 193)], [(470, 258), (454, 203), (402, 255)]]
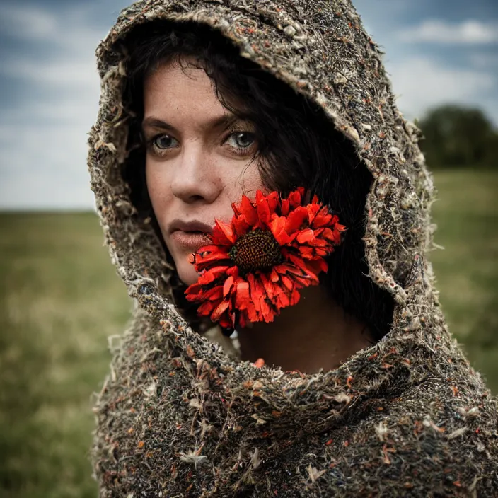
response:
[(0, 215), (0, 496), (95, 497), (91, 394), (130, 303), (94, 214)]

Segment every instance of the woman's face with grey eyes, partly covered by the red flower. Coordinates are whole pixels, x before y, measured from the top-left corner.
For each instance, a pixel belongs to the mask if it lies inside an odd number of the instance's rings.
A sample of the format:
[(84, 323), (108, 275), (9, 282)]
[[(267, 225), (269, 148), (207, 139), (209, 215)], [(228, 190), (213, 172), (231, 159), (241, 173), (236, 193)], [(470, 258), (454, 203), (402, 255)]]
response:
[[(188, 59), (186, 59), (188, 62)], [(203, 69), (163, 64), (144, 81), (146, 182), (180, 279), (197, 282), (189, 256), (208, 242), (214, 219), (263, 189), (255, 129), (221, 105)]]

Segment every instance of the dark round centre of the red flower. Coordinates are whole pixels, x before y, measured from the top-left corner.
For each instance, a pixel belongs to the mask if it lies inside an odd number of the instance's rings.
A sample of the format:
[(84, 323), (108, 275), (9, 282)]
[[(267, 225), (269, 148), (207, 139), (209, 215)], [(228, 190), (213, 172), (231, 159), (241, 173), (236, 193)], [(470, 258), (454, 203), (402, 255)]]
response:
[(269, 230), (250, 231), (236, 241), (229, 253), (242, 274), (270, 270), (282, 261), (280, 245)]

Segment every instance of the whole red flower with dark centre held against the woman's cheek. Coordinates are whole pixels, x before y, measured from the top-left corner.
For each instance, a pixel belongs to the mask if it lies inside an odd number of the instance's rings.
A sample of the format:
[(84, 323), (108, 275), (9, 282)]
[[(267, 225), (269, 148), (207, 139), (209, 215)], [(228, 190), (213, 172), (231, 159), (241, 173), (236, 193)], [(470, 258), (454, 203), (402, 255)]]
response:
[(318, 197), (303, 205), (304, 194), (303, 187), (286, 199), (258, 190), (255, 202), (244, 195), (232, 204), (230, 224), (215, 221), (212, 244), (192, 255), (199, 280), (185, 291), (200, 303), (199, 315), (226, 329), (272, 322), (299, 301), (299, 289), (318, 285), (344, 226)]

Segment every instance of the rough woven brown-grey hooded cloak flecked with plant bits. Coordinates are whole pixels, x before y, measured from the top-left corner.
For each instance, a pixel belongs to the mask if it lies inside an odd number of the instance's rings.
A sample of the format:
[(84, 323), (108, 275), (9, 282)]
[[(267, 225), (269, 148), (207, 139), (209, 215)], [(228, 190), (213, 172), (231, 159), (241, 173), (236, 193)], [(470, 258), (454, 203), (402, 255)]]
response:
[[(333, 371), (256, 368), (195, 332), (122, 176), (132, 117), (120, 43), (154, 19), (209, 25), (325, 111), (373, 181), (369, 277), (388, 334)], [(432, 179), (349, 0), (141, 0), (100, 43), (88, 166), (105, 241), (134, 298), (95, 406), (100, 497), (493, 497), (497, 402), (451, 337), (427, 252)]]

